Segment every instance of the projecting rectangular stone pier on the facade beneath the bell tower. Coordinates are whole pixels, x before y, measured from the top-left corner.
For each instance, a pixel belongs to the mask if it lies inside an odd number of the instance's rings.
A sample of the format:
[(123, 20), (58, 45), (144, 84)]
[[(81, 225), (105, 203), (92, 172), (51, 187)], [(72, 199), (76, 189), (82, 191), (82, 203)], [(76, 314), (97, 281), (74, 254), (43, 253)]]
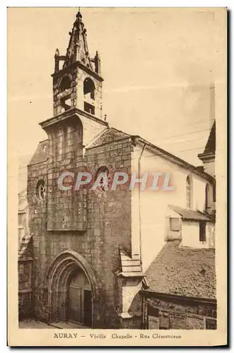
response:
[[(83, 171), (83, 128), (77, 116), (49, 129), (47, 229), (57, 231), (85, 231), (86, 190), (80, 193), (64, 191), (58, 186), (62, 172)], [(65, 180), (65, 183), (69, 180)]]

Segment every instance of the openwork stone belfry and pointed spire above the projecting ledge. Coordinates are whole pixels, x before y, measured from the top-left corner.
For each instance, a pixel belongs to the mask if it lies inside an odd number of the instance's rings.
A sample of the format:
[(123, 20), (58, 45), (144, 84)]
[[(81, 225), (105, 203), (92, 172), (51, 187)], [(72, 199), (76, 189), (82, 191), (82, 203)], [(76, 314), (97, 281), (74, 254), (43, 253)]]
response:
[(76, 14), (66, 55), (54, 54), (53, 104), (54, 116), (76, 108), (102, 119), (102, 83), (100, 56), (88, 52), (87, 31), (81, 12)]

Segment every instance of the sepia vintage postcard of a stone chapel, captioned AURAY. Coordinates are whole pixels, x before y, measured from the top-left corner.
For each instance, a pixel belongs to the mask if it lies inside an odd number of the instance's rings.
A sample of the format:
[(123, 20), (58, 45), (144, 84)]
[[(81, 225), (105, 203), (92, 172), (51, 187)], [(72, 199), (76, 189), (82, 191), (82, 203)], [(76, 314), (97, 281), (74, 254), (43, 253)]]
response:
[(226, 8), (8, 8), (8, 345), (227, 344)]

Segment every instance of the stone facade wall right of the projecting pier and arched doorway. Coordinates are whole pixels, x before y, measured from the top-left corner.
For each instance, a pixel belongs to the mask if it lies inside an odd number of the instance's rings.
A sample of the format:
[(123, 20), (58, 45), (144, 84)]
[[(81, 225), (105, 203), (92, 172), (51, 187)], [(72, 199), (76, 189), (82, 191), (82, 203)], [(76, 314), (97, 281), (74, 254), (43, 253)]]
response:
[[(86, 151), (87, 169), (93, 176), (100, 167), (112, 172), (131, 173), (131, 143), (108, 143)], [(106, 328), (118, 328), (119, 297), (117, 270), (120, 270), (119, 246), (131, 251), (131, 191), (117, 186), (116, 191), (88, 191), (88, 234), (95, 240), (93, 268), (100, 279), (100, 315)]]

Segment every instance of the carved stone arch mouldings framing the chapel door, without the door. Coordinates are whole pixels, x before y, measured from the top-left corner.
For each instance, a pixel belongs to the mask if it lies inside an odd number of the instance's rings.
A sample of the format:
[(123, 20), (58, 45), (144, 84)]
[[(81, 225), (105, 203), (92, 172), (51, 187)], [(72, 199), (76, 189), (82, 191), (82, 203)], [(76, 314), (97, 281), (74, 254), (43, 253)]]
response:
[(67, 320), (69, 278), (76, 269), (83, 270), (90, 282), (92, 289), (92, 326), (95, 328), (99, 298), (98, 282), (91, 266), (76, 251), (60, 253), (49, 267), (45, 283), (47, 289), (47, 320), (49, 322)]

